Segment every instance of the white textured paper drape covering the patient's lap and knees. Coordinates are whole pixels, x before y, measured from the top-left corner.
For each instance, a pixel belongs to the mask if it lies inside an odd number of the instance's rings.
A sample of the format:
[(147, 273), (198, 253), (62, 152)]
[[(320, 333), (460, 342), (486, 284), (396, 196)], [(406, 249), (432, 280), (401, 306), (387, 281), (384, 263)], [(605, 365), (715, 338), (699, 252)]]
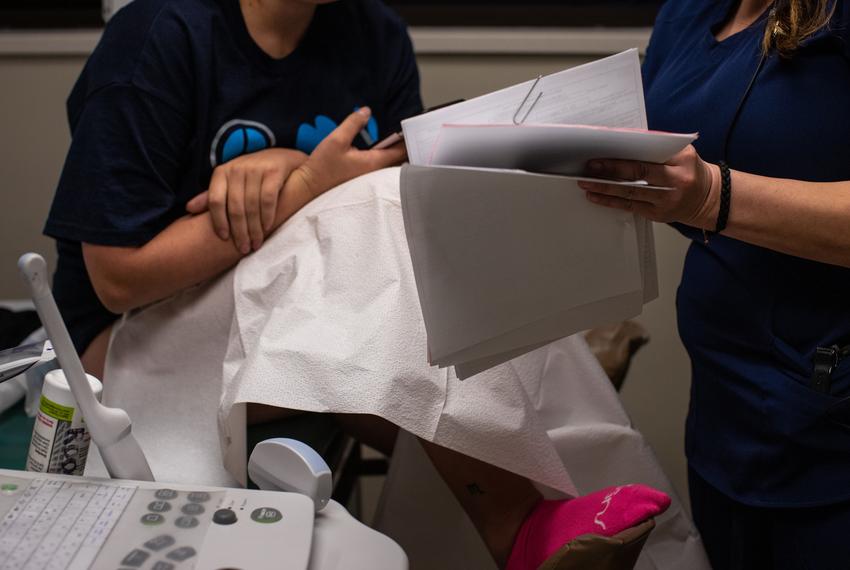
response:
[(574, 493), (529, 399), (546, 349), (523, 358), (536, 366), (509, 362), (463, 382), (428, 365), (398, 169), (308, 204), (239, 264), (234, 294), (222, 425), (244, 402), (374, 414)]

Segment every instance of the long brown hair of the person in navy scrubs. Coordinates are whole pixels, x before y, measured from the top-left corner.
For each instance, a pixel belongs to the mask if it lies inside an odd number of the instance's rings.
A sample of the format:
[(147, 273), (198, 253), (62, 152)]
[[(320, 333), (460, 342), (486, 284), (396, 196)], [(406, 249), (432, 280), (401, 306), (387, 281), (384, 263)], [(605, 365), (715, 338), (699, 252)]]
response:
[(839, 0), (777, 0), (767, 22), (762, 49), (791, 57), (800, 43), (829, 23)]

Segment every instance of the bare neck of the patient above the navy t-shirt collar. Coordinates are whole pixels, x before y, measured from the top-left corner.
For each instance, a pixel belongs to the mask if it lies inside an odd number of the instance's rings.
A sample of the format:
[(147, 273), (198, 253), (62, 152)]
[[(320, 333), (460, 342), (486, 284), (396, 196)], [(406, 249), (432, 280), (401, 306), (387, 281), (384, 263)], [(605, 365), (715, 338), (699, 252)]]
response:
[(316, 11), (297, 0), (239, 0), (239, 6), (251, 38), (275, 59), (295, 51)]

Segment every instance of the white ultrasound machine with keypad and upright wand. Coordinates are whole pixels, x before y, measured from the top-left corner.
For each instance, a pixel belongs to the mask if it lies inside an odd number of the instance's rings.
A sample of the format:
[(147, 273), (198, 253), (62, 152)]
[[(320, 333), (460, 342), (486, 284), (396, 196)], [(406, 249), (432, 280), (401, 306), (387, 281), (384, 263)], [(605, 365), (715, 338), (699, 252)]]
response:
[[(19, 268), (111, 479), (0, 469), (0, 570), (405, 570), (392, 540), (330, 500), (331, 473), (289, 439), (254, 448), (261, 490), (156, 483), (129, 416), (91, 392), (40, 256)], [(48, 351), (0, 353), (0, 382)]]

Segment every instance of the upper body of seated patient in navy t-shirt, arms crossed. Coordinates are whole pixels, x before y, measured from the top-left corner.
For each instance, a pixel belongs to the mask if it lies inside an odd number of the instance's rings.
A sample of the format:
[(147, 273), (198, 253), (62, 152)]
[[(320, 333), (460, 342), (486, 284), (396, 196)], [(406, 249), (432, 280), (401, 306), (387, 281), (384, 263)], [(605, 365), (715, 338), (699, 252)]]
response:
[(71, 148), (45, 228), (87, 369), (102, 376), (118, 314), (223, 272), (313, 196), (400, 162), (403, 146), (356, 149), (421, 107), (405, 26), (376, 0), (119, 11), (68, 99)]

